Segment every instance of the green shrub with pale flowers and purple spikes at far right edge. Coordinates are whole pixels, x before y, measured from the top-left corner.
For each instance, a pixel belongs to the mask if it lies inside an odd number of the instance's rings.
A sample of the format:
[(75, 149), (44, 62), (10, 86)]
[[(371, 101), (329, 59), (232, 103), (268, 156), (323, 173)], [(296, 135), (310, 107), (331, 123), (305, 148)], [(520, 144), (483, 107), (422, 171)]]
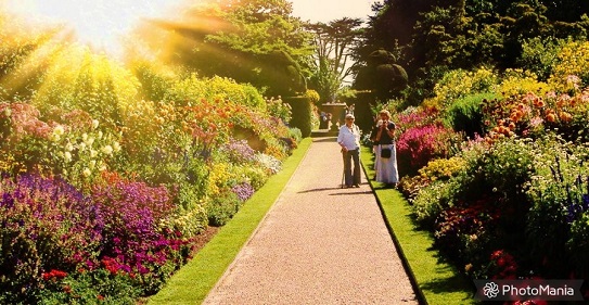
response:
[(589, 176), (577, 156), (589, 148), (562, 140), (538, 141), (536, 175), (526, 191), (530, 258), (548, 277), (586, 277), (589, 264)]

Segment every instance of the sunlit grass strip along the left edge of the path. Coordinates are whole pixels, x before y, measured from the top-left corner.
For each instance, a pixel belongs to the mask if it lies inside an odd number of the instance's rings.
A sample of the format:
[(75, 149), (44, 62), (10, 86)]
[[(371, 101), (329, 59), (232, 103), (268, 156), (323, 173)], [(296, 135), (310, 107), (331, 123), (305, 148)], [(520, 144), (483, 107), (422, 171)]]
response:
[(270, 177), (213, 240), (178, 270), (164, 289), (149, 298), (148, 304), (201, 304), (264, 219), (311, 142), (311, 138), (303, 139), (282, 165), (282, 170)]

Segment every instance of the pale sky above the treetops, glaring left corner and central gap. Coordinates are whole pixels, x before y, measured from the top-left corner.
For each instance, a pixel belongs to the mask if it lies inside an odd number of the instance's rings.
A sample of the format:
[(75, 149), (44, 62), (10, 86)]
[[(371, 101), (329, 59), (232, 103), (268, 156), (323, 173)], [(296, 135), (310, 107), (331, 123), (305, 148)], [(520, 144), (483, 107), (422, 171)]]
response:
[[(65, 23), (82, 42), (116, 49), (119, 37), (141, 17), (169, 15), (184, 0), (0, 0), (9, 10), (37, 22)], [(191, 0), (197, 1), (197, 0)], [(328, 23), (342, 17), (367, 20), (376, 0), (290, 0), (293, 15)], [(86, 41), (85, 41), (86, 40)]]

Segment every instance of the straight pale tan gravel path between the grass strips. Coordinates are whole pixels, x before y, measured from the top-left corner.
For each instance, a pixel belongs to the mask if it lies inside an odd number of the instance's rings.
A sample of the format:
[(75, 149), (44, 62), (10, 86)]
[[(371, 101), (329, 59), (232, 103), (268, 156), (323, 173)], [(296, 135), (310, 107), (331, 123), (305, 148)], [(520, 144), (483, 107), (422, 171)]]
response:
[(419, 304), (370, 186), (317, 138), (204, 304)]

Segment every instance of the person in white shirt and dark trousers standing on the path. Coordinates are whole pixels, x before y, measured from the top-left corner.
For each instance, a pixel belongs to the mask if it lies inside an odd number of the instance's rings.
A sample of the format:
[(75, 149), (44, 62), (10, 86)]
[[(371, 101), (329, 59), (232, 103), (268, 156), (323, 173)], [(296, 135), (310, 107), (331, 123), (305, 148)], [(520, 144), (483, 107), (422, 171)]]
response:
[[(344, 177), (346, 188), (360, 187), (360, 128), (354, 124), (354, 115), (347, 114), (345, 123), (340, 127), (337, 143), (344, 155)], [(351, 162), (354, 161), (354, 175)]]

